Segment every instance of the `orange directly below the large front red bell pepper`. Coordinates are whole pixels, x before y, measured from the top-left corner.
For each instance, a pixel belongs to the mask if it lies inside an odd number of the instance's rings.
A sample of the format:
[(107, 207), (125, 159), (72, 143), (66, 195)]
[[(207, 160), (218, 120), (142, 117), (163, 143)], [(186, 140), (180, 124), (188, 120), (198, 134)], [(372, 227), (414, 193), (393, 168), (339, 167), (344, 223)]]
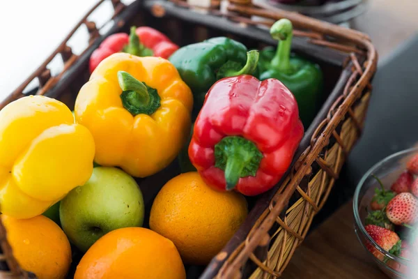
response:
[(197, 172), (174, 177), (155, 197), (150, 228), (176, 245), (189, 264), (208, 264), (247, 217), (236, 192), (212, 190)]

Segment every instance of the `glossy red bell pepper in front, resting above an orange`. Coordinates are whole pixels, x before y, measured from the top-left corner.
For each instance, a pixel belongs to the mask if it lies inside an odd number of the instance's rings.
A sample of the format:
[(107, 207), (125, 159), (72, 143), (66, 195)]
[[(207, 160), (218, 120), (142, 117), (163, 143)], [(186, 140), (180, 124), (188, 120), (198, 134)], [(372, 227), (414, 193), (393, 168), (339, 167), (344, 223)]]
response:
[(208, 186), (258, 195), (281, 179), (303, 134), (295, 97), (279, 80), (226, 77), (206, 95), (189, 158)]

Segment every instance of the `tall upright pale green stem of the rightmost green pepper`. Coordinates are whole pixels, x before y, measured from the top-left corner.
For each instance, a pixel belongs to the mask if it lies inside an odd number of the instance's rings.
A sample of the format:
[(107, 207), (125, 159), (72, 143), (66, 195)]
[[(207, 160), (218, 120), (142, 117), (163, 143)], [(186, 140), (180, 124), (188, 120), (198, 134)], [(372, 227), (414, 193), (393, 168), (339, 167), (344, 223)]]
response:
[(277, 70), (286, 72), (291, 68), (292, 22), (285, 18), (274, 22), (270, 28), (270, 35), (274, 40), (279, 40), (276, 54), (270, 63)]

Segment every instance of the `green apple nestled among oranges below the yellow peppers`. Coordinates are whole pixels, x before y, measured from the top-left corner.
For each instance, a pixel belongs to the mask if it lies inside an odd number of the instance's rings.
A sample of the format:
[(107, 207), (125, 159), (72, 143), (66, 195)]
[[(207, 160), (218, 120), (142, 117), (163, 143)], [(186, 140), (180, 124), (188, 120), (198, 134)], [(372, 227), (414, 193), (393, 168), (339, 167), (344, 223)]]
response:
[(121, 169), (95, 167), (84, 186), (61, 200), (59, 216), (68, 239), (86, 252), (114, 229), (141, 227), (144, 199), (137, 182)]

